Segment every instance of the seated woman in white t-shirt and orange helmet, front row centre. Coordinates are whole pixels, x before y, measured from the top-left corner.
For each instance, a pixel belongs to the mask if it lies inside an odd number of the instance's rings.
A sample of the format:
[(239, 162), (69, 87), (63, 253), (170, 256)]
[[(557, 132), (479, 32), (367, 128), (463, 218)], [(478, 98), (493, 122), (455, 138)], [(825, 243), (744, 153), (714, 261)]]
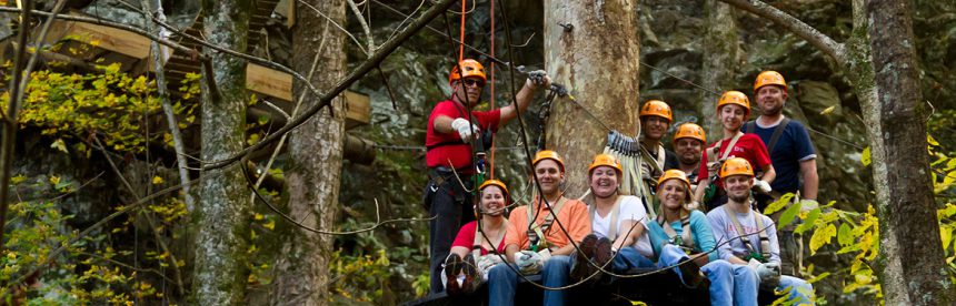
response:
[(598, 154), (588, 167), (591, 194), (585, 202), (588, 203), (591, 234), (581, 241), (580, 252), (572, 263), (571, 279), (587, 278), (597, 267), (614, 273), (654, 267), (648, 259), (653, 253), (645, 231), (647, 212), (640, 198), (620, 194), (621, 177), (620, 163), (608, 154)]

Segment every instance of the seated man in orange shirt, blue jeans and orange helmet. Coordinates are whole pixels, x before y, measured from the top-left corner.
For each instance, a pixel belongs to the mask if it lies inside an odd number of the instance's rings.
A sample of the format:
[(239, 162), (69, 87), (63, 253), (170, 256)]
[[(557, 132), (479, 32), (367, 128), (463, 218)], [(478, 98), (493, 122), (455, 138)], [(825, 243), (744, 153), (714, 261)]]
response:
[[(565, 163), (555, 151), (545, 150), (531, 162), (540, 193), (530, 205), (511, 212), (505, 234), (507, 265), (488, 273), (489, 305), (514, 305), (518, 273), (541, 273), (541, 285), (555, 288), (568, 284), (575, 244), (591, 232), (588, 207), (564, 196)], [(564, 290), (545, 290), (545, 305), (564, 305)]]

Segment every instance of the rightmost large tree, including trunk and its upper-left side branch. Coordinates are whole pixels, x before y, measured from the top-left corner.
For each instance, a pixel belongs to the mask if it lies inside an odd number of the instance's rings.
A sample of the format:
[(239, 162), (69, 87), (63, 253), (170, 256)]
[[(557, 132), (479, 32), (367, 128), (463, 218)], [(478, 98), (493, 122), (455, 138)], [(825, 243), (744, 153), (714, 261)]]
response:
[(763, 1), (720, 1), (807, 40), (843, 67), (853, 83), (873, 157), (880, 222), (880, 254), (874, 271), (886, 304), (956, 302), (944, 262), (925, 153), (926, 115), (909, 2), (853, 0), (853, 33), (840, 43)]

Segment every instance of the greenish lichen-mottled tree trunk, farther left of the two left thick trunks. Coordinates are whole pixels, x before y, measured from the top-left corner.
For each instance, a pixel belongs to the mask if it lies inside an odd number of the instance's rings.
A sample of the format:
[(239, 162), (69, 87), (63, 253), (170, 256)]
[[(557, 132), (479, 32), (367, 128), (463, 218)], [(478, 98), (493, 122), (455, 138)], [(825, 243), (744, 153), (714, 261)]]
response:
[[(203, 34), (213, 44), (246, 50), (251, 0), (205, 0)], [(206, 52), (216, 84), (202, 82), (202, 160), (229, 157), (242, 150), (246, 133), (246, 62)], [(203, 79), (209, 80), (209, 79)], [(240, 163), (207, 171), (200, 185), (196, 238), (196, 305), (239, 305), (246, 289), (247, 238), (251, 220), (249, 190)]]

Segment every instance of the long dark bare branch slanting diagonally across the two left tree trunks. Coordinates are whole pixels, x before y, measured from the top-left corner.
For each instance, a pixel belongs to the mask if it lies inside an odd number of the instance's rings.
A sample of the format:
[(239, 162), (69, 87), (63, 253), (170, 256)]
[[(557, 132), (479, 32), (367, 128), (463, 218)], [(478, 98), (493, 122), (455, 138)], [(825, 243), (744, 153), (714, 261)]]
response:
[[(295, 120), (290, 121), (289, 123), (286, 123), (286, 125), (282, 126), (281, 129), (279, 129), (278, 131), (276, 131), (276, 133), (272, 133), (271, 135), (262, 139), (262, 141), (258, 142), (258, 143), (256, 143), (249, 147), (243, 149), (238, 154), (236, 154), (231, 157), (221, 160), (221, 161), (212, 161), (212, 162), (210, 162), (210, 164), (205, 165), (202, 169), (203, 170), (221, 169), (221, 167), (225, 167), (225, 166), (230, 165), (232, 163), (236, 163), (239, 160), (241, 160), (242, 156), (245, 156), (249, 152), (255, 152), (255, 151), (261, 150), (262, 147), (266, 147), (266, 145), (269, 145), (270, 143), (278, 141), (282, 135), (292, 131), (292, 129), (296, 129), (299, 125), (302, 125), (303, 123), (306, 123), (306, 121), (308, 121), (310, 118), (312, 118), (319, 111), (321, 111), (323, 108), (328, 106), (331, 103), (332, 99), (338, 96), (339, 93), (341, 93), (342, 91), (348, 89), (348, 86), (350, 86), (352, 83), (355, 83), (356, 81), (361, 79), (366, 73), (368, 73), (369, 71), (371, 71), (372, 69), (378, 67), (378, 64), (381, 63), (381, 61), (385, 60), (386, 57), (391, 54), (391, 52), (395, 52), (395, 50), (398, 49), (398, 47), (401, 45), (402, 42), (405, 42), (406, 40), (411, 38), (412, 34), (415, 34), (416, 32), (418, 32), (419, 30), (425, 28), (425, 26), (428, 24), (428, 22), (430, 22), (436, 17), (438, 17), (439, 13), (441, 13), (444, 10), (446, 10), (448, 7), (450, 7), (452, 3), (455, 3), (455, 0), (441, 0), (441, 2), (436, 3), (434, 7), (431, 7), (431, 9), (426, 11), (422, 17), (420, 17), (415, 22), (412, 22), (408, 27), (408, 29), (404, 30), (395, 39), (387, 41), (385, 44), (382, 44), (381, 49), (379, 49), (378, 52), (376, 52), (375, 54), (372, 54), (371, 58), (369, 58), (368, 60), (362, 62), (361, 65), (359, 65), (356, 70), (353, 70), (348, 76), (346, 76), (345, 80), (340, 81), (338, 84), (336, 84), (335, 88), (332, 88), (330, 91), (322, 94), (319, 99), (319, 103), (316, 104), (315, 106), (306, 110), (306, 112), (302, 113), (301, 116), (298, 116)], [(311, 85), (308, 82), (307, 82), (307, 84)]]

